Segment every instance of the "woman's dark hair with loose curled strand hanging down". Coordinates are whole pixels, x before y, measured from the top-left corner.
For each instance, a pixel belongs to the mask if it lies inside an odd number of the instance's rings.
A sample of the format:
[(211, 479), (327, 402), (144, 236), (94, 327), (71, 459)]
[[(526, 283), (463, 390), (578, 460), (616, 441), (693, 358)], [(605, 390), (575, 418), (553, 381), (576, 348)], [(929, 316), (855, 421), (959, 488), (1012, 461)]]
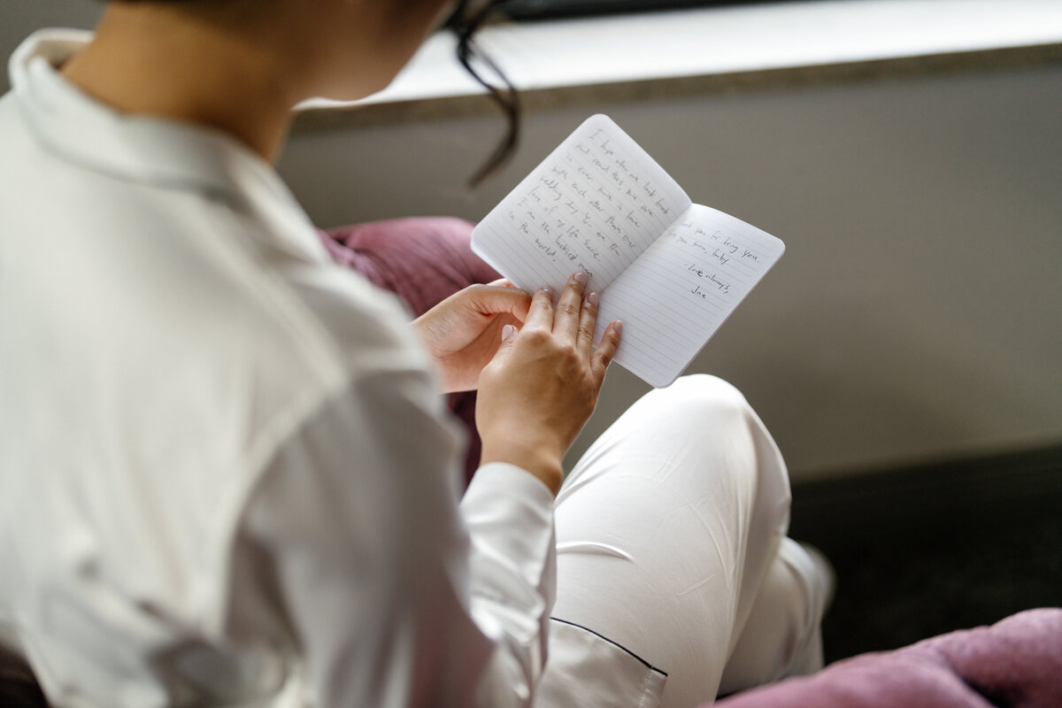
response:
[[(119, 0), (121, 2), (137, 2), (140, 0)], [(190, 2), (191, 0), (155, 0), (157, 2)], [(219, 0), (213, 0), (219, 1)], [(224, 0), (220, 0), (224, 1)], [(484, 160), (483, 165), (473, 173), (468, 180), (468, 187), (475, 188), (486, 177), (491, 176), (509, 162), (516, 150), (520, 134), (520, 105), (516, 88), (513, 86), (506, 73), (494, 61), (484, 54), (476, 45), (474, 35), (483, 23), (496, 14), (496, 5), (504, 0), (458, 0), (453, 13), (446, 22), (446, 28), (450, 30), (458, 39), (457, 54), (458, 62), (464, 67), (473, 79), (485, 88), (491, 100), (501, 109), (506, 117), (506, 135), (501, 138), (494, 152)], [(474, 6), (475, 5), (475, 6)], [(493, 73), (501, 83), (486, 80), (477, 64), (482, 65)]]

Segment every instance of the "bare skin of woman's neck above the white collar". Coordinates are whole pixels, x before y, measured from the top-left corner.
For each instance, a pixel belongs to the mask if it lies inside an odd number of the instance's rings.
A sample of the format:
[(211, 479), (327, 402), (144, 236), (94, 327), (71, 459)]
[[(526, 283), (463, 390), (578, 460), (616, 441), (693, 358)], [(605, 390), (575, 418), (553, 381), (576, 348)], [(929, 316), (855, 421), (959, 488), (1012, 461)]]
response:
[(271, 38), (229, 30), (167, 3), (110, 3), (62, 71), (119, 110), (215, 127), (273, 161), (305, 72), (281, 62)]

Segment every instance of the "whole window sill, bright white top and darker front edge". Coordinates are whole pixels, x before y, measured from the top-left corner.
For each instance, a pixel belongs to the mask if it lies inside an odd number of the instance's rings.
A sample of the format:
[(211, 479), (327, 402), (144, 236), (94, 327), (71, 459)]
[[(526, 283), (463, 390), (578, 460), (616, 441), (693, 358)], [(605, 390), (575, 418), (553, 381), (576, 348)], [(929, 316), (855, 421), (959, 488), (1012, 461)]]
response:
[[(390, 87), (299, 106), (297, 127), (489, 108), (432, 36)], [(820, 0), (486, 28), (526, 107), (1062, 62), (1058, 0)]]

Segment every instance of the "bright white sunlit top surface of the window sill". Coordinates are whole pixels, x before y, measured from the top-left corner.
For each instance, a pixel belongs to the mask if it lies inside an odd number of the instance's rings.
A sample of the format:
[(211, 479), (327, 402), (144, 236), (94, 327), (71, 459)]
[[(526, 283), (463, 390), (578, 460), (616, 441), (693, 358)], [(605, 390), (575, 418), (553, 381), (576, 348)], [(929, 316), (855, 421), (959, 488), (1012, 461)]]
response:
[[(710, 75), (1062, 41), (1059, 0), (832, 0), (511, 23), (481, 44), (520, 89)], [(429, 40), (366, 103), (481, 92)], [(305, 107), (324, 107), (312, 101)]]

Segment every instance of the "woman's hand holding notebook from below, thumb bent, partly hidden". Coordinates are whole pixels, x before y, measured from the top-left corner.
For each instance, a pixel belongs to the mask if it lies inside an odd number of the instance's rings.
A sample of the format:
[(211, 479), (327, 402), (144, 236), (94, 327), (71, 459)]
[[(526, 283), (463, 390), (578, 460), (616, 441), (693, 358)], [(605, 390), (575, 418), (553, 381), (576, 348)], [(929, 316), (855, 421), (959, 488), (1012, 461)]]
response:
[(506, 280), (469, 286), (413, 321), (435, 361), (443, 391), (475, 391), (501, 344), (501, 328), (528, 316), (531, 296)]

